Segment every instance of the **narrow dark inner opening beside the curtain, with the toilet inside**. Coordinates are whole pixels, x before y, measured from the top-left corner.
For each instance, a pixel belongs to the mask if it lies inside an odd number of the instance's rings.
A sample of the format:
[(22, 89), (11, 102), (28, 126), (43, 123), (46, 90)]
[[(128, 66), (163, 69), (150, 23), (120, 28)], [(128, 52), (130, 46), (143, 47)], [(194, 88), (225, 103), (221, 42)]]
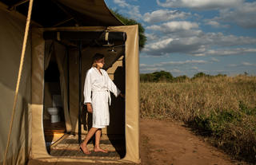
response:
[[(62, 92), (60, 86), (60, 74), (55, 56), (50, 57), (45, 69), (43, 125), (47, 151), (50, 145), (60, 139), (66, 133), (66, 122), (62, 104)], [(51, 116), (50, 111), (56, 109), (57, 116)]]

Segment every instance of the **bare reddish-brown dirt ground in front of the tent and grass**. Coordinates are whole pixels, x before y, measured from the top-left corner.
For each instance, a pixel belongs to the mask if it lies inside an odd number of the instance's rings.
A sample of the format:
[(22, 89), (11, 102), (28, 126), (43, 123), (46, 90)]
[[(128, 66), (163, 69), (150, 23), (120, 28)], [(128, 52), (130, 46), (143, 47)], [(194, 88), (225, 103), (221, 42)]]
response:
[[(140, 120), (140, 152), (142, 165), (246, 164), (231, 160), (202, 137), (195, 136), (182, 123), (167, 120)], [(30, 160), (28, 164), (89, 163), (44, 163)]]

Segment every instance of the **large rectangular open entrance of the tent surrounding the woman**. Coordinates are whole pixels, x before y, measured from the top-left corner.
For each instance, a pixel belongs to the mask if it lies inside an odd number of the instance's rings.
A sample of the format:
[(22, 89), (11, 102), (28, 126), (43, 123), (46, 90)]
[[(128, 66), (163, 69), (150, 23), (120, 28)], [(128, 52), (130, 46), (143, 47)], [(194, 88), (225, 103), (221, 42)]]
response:
[[(125, 41), (126, 33), (106, 31), (95, 32), (56, 32), (43, 33), (46, 41), (45, 49), (45, 73), (47, 69), (54, 68), (53, 79), (58, 79), (59, 84), (52, 84), (54, 90), (59, 87), (58, 93), (62, 100), (62, 122), (60, 126), (65, 129), (65, 135), (56, 143), (48, 147), (52, 156), (58, 157), (82, 157), (85, 155), (79, 151), (79, 141), (84, 139), (91, 127), (91, 114), (86, 111), (83, 102), (83, 86), (86, 71), (91, 67), (91, 59), (95, 53), (105, 55), (106, 69), (110, 78), (118, 88), (125, 92)], [(53, 69), (53, 70), (54, 70)], [(44, 113), (47, 112), (47, 75), (45, 74), (45, 98)], [(55, 87), (54, 87), (55, 85)], [(47, 95), (46, 95), (47, 94)], [(110, 126), (102, 129), (101, 147), (109, 150), (109, 153), (92, 153), (87, 159), (122, 159), (126, 155), (125, 139), (125, 100), (111, 95)], [(44, 125), (46, 130), (46, 124)], [(64, 133), (63, 132), (63, 133)], [(46, 134), (45, 134), (46, 137)], [(47, 139), (47, 138), (46, 138)], [(46, 141), (46, 144), (50, 142)], [(88, 144), (93, 150), (94, 139)]]

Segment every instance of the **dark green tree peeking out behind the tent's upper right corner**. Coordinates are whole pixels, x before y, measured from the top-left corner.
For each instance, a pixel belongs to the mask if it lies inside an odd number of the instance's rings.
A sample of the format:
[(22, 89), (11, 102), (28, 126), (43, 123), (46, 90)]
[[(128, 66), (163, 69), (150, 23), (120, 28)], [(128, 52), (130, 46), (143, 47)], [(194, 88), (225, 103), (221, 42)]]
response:
[(146, 35), (145, 29), (143, 28), (142, 24), (135, 21), (134, 19), (126, 18), (122, 16), (122, 14), (118, 14), (118, 10), (110, 10), (121, 22), (123, 22), (126, 26), (138, 25), (138, 37), (139, 37), (139, 50), (144, 48), (146, 44)]

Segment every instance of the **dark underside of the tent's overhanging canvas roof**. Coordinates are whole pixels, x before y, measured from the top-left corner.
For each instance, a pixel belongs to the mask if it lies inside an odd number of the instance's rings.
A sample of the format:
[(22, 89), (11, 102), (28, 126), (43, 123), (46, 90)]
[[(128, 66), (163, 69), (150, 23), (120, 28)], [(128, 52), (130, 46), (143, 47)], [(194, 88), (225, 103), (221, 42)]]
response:
[[(0, 0), (26, 15), (29, 0)], [(43, 27), (122, 26), (104, 0), (34, 0), (32, 20)]]

